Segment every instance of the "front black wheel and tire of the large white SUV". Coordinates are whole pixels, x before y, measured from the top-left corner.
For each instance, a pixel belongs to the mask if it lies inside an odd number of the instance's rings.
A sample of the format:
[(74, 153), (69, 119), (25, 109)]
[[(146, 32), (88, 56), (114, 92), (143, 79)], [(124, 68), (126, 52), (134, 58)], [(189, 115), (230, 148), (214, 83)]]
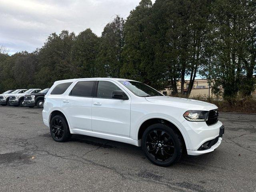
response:
[(153, 124), (146, 128), (142, 135), (142, 149), (152, 163), (158, 166), (170, 166), (180, 160), (182, 140), (171, 127), (165, 124)]

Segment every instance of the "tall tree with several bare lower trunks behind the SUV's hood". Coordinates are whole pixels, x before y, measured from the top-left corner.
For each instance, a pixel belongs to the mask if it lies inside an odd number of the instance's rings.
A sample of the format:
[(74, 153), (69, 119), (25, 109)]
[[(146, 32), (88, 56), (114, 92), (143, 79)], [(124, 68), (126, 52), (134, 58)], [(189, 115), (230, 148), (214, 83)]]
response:
[(156, 0), (152, 9), (156, 62), (162, 63), (166, 81), (174, 94), (178, 93), (177, 80), (181, 80), (181, 93), (184, 94), (185, 78), (190, 77), (189, 96), (198, 69), (206, 63), (210, 2)]

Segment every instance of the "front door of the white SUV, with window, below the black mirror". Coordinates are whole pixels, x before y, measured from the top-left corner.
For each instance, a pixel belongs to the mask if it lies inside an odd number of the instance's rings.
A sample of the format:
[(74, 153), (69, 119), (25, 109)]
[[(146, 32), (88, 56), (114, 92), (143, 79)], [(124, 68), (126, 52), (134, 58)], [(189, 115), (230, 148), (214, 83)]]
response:
[(126, 91), (110, 80), (98, 81), (96, 88), (96, 97), (92, 99), (92, 130), (129, 137), (130, 96), (129, 100), (111, 98), (113, 91)]

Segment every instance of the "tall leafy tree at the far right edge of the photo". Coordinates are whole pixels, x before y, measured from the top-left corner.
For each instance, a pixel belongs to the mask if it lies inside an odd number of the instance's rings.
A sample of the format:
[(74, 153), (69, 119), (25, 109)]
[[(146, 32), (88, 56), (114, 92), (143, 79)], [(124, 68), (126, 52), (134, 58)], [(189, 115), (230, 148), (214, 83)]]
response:
[(211, 14), (211, 76), (214, 93), (223, 88), (224, 98), (234, 98), (242, 90), (250, 95), (255, 79), (255, 3), (217, 0)]

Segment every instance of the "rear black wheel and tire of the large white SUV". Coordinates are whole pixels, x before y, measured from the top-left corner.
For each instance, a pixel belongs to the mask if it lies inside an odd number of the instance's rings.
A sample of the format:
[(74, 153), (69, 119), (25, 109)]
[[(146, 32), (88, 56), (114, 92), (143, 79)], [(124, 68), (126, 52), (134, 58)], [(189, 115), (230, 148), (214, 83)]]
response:
[(51, 119), (50, 133), (56, 142), (65, 142), (70, 139), (68, 123), (63, 116), (56, 115)]

